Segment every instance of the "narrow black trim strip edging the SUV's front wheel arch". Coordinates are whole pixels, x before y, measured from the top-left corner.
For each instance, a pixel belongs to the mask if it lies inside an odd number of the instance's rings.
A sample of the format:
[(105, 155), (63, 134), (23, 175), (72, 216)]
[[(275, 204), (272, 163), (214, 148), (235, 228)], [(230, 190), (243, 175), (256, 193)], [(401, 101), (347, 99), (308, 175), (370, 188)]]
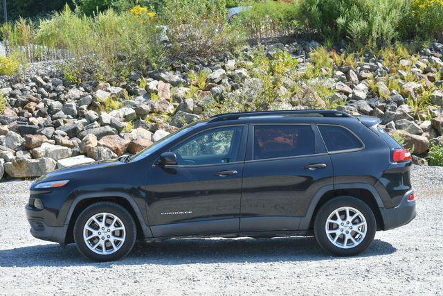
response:
[(74, 212), (75, 207), (77, 207), (77, 204), (82, 201), (86, 200), (87, 198), (124, 198), (131, 204), (132, 209), (134, 210), (134, 213), (136, 214), (136, 218), (138, 219), (138, 222), (141, 225), (141, 228), (143, 230), (144, 238), (151, 238), (152, 232), (149, 226), (147, 226), (147, 221), (145, 221), (145, 218), (143, 218), (143, 214), (141, 210), (138, 208), (138, 205), (136, 204), (134, 198), (132, 198), (131, 195), (123, 192), (118, 191), (103, 191), (98, 193), (84, 193), (78, 195), (73, 203), (71, 204), (71, 207), (69, 208), (68, 214), (66, 215), (66, 219), (64, 220), (64, 225), (69, 225), (69, 221), (71, 220), (71, 216)]

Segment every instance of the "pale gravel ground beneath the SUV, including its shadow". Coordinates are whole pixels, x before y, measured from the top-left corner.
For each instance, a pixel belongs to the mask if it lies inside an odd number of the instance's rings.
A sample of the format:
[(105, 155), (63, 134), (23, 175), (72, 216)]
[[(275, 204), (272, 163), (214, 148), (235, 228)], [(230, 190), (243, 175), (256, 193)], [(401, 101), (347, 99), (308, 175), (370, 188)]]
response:
[(414, 166), (417, 218), (378, 232), (352, 258), (328, 256), (311, 237), (212, 238), (136, 245), (121, 261), (91, 263), (75, 245), (30, 236), (29, 183), (0, 183), (1, 295), (443, 295), (443, 168)]

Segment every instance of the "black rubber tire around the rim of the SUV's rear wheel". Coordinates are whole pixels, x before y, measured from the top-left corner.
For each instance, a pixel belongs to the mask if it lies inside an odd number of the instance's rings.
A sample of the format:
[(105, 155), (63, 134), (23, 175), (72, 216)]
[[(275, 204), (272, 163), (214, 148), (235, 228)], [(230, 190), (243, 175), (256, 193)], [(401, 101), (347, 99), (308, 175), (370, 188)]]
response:
[[(352, 207), (363, 214), (366, 220), (366, 234), (359, 244), (355, 245), (355, 247), (350, 247), (348, 249), (338, 247), (334, 245), (332, 241), (329, 241), (329, 238), (326, 233), (326, 223), (327, 218), (333, 211), (339, 209), (341, 207)], [(352, 223), (351, 223), (352, 224)], [(339, 227), (341, 228), (341, 227)], [(318, 210), (316, 214), (316, 218), (314, 220), (314, 236), (318, 241), (318, 244), (323, 247), (323, 249), (334, 256), (354, 256), (356, 254), (360, 254), (364, 250), (366, 250), (372, 241), (374, 240), (375, 232), (377, 231), (377, 222), (375, 220), (374, 213), (372, 209), (365, 204), (365, 202), (353, 198), (352, 196), (338, 196), (329, 200)], [(352, 232), (351, 232), (352, 233)], [(344, 236), (339, 236), (339, 239), (343, 239)], [(344, 245), (344, 243), (342, 244)]]

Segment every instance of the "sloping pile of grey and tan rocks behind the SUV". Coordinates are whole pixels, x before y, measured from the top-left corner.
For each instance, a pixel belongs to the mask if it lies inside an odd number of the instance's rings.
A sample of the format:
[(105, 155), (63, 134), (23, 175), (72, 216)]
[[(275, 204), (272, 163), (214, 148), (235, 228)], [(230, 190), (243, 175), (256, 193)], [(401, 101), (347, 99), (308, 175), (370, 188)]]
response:
[[(309, 48), (316, 45), (272, 44), (267, 50), (269, 56), (276, 49), (288, 51), (297, 58), (298, 69), (305, 71)], [(437, 80), (443, 75), (442, 49), (441, 44), (433, 44), (415, 63), (400, 60), (401, 67), (410, 69), (395, 75), (401, 92), (389, 89), (386, 78), (391, 69), (373, 58), (356, 67), (336, 67), (324, 84), (346, 102), (338, 110), (379, 117), (383, 128), (403, 137), (406, 147), (413, 149), (415, 162), (426, 164), (423, 156), (430, 144), (443, 144), (443, 80)], [(0, 178), (3, 173), (37, 177), (56, 168), (137, 153), (177, 128), (202, 119), (201, 100), (223, 98), (251, 85), (253, 69), (246, 70), (244, 64), (234, 58), (209, 65), (179, 64), (172, 70), (151, 71), (146, 77), (131, 73), (127, 82), (113, 85), (96, 81), (75, 85), (57, 71), (45, 73), (41, 66), (38, 73), (21, 80), (3, 76), (0, 92), (7, 105), (0, 115)], [(191, 68), (208, 73), (199, 101), (188, 96), (192, 85), (198, 84), (188, 74)], [(410, 75), (421, 82), (406, 82)], [(370, 79), (377, 83), (377, 91)], [(433, 105), (426, 112), (416, 112), (405, 94), (414, 99), (431, 84)], [(307, 107), (282, 102), (276, 108)]]

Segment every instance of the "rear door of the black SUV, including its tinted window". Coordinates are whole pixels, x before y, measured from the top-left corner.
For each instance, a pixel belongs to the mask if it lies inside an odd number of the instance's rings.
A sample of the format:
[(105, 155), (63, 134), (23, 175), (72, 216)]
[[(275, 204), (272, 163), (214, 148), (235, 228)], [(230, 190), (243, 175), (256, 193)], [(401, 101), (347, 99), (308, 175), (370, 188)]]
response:
[(320, 187), (333, 184), (331, 159), (311, 124), (249, 128), (240, 232), (298, 230)]

